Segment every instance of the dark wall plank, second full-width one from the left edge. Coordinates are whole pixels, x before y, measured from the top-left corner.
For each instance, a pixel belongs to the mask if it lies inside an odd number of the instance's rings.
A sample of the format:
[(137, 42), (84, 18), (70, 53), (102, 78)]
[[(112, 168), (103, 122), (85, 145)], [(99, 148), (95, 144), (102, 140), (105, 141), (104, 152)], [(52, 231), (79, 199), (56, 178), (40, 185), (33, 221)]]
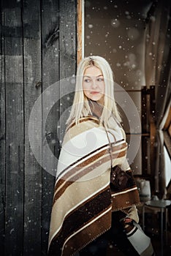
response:
[[(23, 53), (24, 53), (24, 112), (25, 112), (25, 196), (23, 255), (41, 255), (41, 207), (42, 207), (42, 168), (34, 157), (30, 146), (34, 147), (41, 159), (42, 146), (32, 141), (31, 135), (37, 131), (42, 141), (41, 124), (29, 123), (34, 102), (42, 92), (41, 78), (41, 29), (40, 1), (23, 1)], [(36, 116), (42, 119), (42, 105)], [(28, 134), (28, 127), (31, 132)], [(33, 144), (34, 143), (34, 144)], [(41, 162), (40, 162), (41, 164)]]

